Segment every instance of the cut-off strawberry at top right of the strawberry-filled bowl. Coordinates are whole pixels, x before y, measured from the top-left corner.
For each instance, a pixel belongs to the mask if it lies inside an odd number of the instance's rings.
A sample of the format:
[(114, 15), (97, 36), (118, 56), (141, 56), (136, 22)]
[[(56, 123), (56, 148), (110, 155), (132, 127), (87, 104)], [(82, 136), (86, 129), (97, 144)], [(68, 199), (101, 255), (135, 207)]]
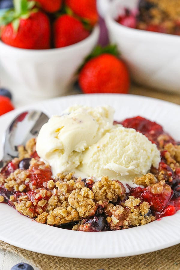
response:
[(91, 25), (98, 21), (96, 0), (65, 0), (65, 4), (78, 16), (88, 19)]

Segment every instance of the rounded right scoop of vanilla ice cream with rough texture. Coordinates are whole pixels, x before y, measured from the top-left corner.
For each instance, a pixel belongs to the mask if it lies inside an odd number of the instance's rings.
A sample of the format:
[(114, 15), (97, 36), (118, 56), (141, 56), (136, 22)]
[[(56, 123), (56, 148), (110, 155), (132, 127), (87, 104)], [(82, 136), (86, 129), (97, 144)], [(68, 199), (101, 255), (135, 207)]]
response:
[(88, 176), (134, 179), (158, 167), (160, 152), (146, 136), (116, 125), (82, 155), (78, 170)]

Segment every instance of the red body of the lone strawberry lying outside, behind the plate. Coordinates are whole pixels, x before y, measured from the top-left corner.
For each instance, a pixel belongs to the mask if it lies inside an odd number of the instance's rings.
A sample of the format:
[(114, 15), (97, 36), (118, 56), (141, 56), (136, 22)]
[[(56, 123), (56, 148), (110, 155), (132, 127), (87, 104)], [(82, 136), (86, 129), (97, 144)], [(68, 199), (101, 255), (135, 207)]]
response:
[(80, 71), (79, 85), (88, 93), (127, 93), (130, 85), (126, 65), (115, 55), (103, 53), (90, 59)]

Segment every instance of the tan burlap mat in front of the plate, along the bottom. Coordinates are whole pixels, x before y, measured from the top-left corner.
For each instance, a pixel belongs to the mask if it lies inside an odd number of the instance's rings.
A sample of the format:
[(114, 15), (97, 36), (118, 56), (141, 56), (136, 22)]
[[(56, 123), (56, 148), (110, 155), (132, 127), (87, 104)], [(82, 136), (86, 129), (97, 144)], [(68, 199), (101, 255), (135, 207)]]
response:
[(180, 244), (163, 250), (116, 259), (70, 259), (43, 255), (0, 241), (0, 249), (22, 256), (41, 270), (170, 270), (180, 269)]

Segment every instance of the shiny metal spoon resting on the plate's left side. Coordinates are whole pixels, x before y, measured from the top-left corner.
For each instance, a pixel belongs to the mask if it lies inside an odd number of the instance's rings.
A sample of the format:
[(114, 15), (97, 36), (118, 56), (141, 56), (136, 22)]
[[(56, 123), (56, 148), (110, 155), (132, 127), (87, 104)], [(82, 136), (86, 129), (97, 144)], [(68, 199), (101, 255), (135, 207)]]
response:
[(18, 156), (17, 147), (36, 137), (49, 118), (41, 111), (29, 110), (16, 116), (4, 134), (4, 156), (0, 161), (0, 169), (12, 158)]

